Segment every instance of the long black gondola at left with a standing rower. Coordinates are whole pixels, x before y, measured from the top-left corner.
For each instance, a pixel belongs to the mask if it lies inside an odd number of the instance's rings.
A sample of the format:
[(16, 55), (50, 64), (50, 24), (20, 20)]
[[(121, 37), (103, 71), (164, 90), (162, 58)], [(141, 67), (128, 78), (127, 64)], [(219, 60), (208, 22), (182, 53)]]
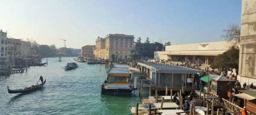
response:
[(8, 89), (8, 93), (28, 93), (28, 92), (32, 92), (34, 90), (42, 88), (45, 83), (46, 83), (46, 79), (45, 79), (45, 81), (43, 81), (42, 84), (38, 84), (35, 86), (31, 86), (31, 87), (25, 87), (24, 89), (11, 90), (11, 89), (9, 89), (9, 86), (7, 86), (7, 89)]

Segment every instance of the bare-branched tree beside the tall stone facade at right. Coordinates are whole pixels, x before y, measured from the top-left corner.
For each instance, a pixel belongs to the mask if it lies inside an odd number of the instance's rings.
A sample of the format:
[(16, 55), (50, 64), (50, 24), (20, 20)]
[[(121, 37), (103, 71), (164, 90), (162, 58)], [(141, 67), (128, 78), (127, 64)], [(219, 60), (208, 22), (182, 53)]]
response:
[(228, 29), (223, 29), (221, 37), (226, 41), (235, 41), (234, 45), (237, 46), (240, 43), (240, 25), (229, 24)]

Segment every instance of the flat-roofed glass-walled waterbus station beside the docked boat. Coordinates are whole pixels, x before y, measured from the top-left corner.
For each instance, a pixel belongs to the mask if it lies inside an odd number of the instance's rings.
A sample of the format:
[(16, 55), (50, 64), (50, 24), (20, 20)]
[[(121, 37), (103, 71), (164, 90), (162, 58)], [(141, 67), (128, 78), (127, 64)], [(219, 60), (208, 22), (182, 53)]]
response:
[[(194, 88), (194, 78), (203, 71), (185, 68), (183, 66), (162, 65), (158, 63), (139, 62), (140, 71), (152, 81), (155, 87), (178, 87), (191, 86)], [(189, 79), (189, 80), (188, 80)]]

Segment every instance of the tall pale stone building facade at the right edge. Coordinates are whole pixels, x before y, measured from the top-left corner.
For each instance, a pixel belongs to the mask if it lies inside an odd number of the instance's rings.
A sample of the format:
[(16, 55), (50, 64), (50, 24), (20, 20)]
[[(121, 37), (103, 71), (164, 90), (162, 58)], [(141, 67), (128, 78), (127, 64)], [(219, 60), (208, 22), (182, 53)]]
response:
[(256, 84), (256, 1), (242, 1), (241, 38), (237, 79)]

